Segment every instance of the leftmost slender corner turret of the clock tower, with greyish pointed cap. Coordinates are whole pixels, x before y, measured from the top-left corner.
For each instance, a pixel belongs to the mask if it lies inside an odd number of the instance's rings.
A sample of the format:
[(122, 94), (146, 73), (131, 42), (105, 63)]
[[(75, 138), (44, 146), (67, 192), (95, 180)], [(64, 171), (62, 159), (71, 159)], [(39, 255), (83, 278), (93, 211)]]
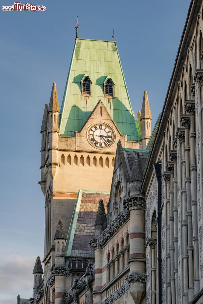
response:
[(43, 194), (45, 195), (46, 190), (46, 178), (44, 174), (44, 163), (46, 158), (46, 138), (47, 138), (47, 121), (48, 121), (48, 105), (45, 104), (44, 107), (44, 115), (42, 119), (42, 126), (40, 133), (42, 134), (42, 141), (41, 141), (41, 181), (40, 186)]

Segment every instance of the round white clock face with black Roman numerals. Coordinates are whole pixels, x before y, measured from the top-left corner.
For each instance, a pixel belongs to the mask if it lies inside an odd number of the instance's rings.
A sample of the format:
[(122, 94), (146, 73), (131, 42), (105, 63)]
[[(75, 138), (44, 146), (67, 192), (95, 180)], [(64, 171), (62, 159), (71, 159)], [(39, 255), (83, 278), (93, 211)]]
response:
[(114, 131), (105, 123), (95, 124), (88, 130), (89, 143), (96, 148), (110, 147), (114, 138)]

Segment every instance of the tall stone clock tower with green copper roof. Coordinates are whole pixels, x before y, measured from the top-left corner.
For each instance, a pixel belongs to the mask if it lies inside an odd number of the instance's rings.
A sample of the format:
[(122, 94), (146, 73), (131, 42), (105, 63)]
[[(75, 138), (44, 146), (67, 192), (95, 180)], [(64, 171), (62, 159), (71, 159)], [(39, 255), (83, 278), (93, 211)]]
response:
[(54, 83), (41, 134), (46, 264), (60, 219), (68, 233), (79, 190), (110, 191), (117, 142), (142, 149), (115, 41), (76, 38), (61, 109)]

